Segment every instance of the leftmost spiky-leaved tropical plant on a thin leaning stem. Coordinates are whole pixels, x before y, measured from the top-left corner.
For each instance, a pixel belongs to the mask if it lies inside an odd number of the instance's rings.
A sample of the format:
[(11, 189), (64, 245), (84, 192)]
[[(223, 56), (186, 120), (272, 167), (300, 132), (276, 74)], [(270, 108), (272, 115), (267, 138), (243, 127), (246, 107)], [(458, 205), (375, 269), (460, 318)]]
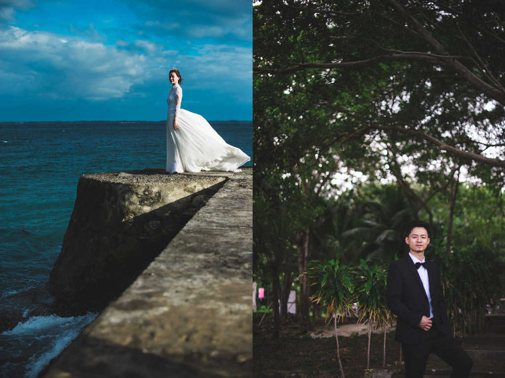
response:
[(351, 271), (347, 265), (339, 265), (337, 260), (319, 261), (308, 269), (307, 276), (312, 279), (312, 285), (316, 286), (316, 292), (312, 296), (312, 301), (322, 303), (326, 306), (328, 316), (332, 316), (335, 326), (335, 339), (337, 341), (337, 359), (340, 367), (340, 375), (345, 377), (340, 359), (340, 346), (338, 344), (337, 321), (341, 317), (344, 319), (352, 310), (355, 296), (352, 293)]

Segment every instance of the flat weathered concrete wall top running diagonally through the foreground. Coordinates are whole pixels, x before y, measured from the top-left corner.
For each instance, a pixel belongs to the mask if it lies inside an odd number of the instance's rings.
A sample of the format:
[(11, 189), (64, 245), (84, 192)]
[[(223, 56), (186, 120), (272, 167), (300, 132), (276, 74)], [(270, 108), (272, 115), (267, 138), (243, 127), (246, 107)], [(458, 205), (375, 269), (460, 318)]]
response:
[(252, 169), (235, 173), (46, 378), (252, 376)]

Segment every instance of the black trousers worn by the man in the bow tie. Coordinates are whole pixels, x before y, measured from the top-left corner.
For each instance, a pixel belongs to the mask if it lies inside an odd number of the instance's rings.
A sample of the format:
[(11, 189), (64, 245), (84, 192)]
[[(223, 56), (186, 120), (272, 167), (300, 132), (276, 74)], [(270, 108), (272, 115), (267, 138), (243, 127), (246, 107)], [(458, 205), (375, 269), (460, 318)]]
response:
[(435, 326), (421, 344), (401, 344), (405, 358), (405, 378), (422, 378), (430, 353), (436, 354), (452, 367), (450, 378), (467, 378), (473, 361), (451, 335), (442, 334)]

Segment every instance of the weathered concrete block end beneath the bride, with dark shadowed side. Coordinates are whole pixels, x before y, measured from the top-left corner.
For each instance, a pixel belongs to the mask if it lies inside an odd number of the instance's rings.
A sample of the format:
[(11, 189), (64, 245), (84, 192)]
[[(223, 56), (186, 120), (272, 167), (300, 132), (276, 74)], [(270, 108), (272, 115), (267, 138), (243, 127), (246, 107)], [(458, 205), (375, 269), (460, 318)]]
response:
[(47, 284), (55, 311), (102, 310), (224, 184), (225, 176), (164, 170), (83, 175)]

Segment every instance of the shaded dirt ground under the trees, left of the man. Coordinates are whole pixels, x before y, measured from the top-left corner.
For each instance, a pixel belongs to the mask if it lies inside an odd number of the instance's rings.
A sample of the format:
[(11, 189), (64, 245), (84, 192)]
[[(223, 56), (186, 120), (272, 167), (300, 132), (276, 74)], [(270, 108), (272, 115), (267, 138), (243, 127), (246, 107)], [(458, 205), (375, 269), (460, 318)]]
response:
[[(340, 376), (333, 322), (324, 318), (314, 322), (314, 330), (300, 335), (297, 316), (283, 322), (278, 339), (272, 338), (271, 318), (254, 318), (254, 365), (257, 378), (335, 378)], [(363, 378), (367, 367), (368, 326), (356, 318), (337, 327), (340, 358), (346, 378)], [(386, 330), (386, 366), (399, 363), (399, 344), (393, 330)], [(373, 329), (370, 367), (382, 367), (384, 331)]]

